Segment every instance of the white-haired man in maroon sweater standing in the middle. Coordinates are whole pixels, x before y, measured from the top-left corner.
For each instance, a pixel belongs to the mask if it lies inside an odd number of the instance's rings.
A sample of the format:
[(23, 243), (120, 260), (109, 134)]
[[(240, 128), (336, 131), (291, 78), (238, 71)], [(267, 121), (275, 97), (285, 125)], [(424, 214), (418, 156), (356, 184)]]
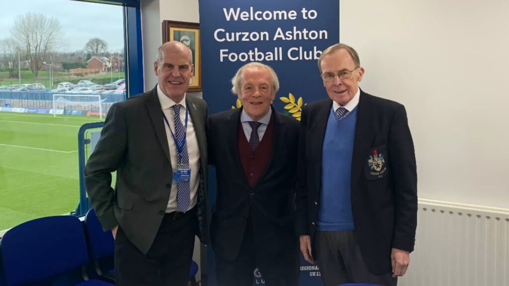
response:
[(217, 195), (211, 243), (221, 286), (251, 286), (259, 268), (269, 286), (295, 286), (294, 231), (298, 121), (277, 113), (269, 66), (249, 63), (232, 79), (242, 108), (209, 117), (209, 157)]

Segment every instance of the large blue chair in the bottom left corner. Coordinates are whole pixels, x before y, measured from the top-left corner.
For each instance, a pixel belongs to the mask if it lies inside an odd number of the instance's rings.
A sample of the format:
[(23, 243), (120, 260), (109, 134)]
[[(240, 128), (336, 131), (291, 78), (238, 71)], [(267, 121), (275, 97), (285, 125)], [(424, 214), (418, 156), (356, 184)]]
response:
[[(77, 217), (51, 216), (11, 228), (0, 241), (7, 286), (51, 283), (89, 262), (83, 225)], [(99, 280), (74, 285), (111, 285)], [(68, 283), (67, 285), (70, 285)]]

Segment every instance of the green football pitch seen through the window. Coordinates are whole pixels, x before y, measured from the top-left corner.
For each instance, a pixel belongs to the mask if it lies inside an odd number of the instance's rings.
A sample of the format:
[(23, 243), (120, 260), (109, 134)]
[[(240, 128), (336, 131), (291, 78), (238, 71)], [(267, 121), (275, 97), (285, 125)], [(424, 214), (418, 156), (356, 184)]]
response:
[(78, 130), (96, 117), (0, 112), (0, 231), (79, 203)]

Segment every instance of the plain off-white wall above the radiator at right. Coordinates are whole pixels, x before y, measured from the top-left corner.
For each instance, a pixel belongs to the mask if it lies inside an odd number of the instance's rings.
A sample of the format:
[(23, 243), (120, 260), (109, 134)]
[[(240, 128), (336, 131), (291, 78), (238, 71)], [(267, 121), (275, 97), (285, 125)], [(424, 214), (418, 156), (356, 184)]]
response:
[(407, 108), (419, 197), (509, 209), (509, 2), (342, 0), (367, 93)]

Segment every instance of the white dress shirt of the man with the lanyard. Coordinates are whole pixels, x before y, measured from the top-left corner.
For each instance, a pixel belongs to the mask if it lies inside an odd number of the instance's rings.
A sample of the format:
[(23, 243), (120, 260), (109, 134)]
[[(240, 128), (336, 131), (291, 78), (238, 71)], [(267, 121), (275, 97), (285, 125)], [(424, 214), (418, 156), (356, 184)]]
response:
[[(162, 112), (164, 112), (164, 116), (168, 120), (169, 127), (164, 121), (161, 114), (161, 121), (163, 121), (164, 129), (166, 131), (166, 139), (168, 140), (169, 147), (169, 156), (172, 159), (172, 167), (177, 167), (177, 146), (175, 145), (175, 141), (172, 136), (175, 134), (175, 112), (173, 111), (173, 106), (175, 104), (180, 104), (180, 120), (182, 124), (185, 126), (186, 122), (186, 95), (181, 102), (177, 103), (167, 97), (159, 88), (159, 84), (157, 85), (157, 96), (159, 97), (159, 102), (161, 103)], [(172, 128), (171, 131), (169, 128)], [(189, 167), (191, 168), (191, 180), (190, 180), (190, 191), (191, 191), (191, 203), (189, 204), (189, 209), (192, 209), (196, 205), (197, 201), (197, 190), (198, 185), (200, 184), (199, 174), (200, 171), (200, 151), (198, 149), (198, 140), (196, 139), (196, 134), (194, 133), (194, 125), (190, 116), (187, 117), (187, 130), (186, 130), (186, 142), (187, 142), (187, 153), (189, 155)], [(168, 176), (171, 174), (168, 174)], [(166, 207), (166, 212), (171, 213), (174, 211), (181, 211), (177, 206), (177, 183), (172, 182), (172, 191), (169, 193), (168, 205)]]

